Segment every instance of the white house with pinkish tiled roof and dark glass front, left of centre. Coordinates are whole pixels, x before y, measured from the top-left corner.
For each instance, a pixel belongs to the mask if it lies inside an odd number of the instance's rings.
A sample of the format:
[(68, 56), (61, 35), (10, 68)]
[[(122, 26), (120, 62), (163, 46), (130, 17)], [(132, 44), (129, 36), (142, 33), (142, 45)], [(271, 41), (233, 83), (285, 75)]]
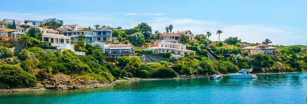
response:
[(103, 42), (99, 42), (99, 41), (94, 41), (92, 43), (90, 43), (91, 45), (95, 45), (98, 44), (101, 46), (103, 53), (107, 54), (110, 58), (119, 58), (122, 56), (133, 56), (134, 55), (134, 48), (132, 48), (131, 45), (127, 45), (127, 44), (113, 44), (113, 43), (108, 43), (105, 44)]

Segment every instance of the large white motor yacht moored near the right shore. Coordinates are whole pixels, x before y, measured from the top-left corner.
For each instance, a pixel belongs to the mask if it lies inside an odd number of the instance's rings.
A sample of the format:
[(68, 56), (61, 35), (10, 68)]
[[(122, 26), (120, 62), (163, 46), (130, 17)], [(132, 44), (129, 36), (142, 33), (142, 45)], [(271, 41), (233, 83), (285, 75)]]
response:
[(252, 72), (253, 67), (251, 69), (241, 69), (239, 72), (235, 74), (227, 74), (230, 78), (258, 78), (255, 74), (250, 74)]

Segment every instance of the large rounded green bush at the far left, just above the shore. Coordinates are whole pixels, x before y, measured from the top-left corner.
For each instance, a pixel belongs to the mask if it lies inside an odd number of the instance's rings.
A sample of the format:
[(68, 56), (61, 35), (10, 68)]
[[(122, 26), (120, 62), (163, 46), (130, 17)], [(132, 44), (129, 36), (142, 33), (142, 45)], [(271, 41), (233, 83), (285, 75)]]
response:
[(24, 85), (26, 87), (35, 87), (36, 77), (22, 68), (14, 65), (0, 65), (0, 81), (11, 86)]

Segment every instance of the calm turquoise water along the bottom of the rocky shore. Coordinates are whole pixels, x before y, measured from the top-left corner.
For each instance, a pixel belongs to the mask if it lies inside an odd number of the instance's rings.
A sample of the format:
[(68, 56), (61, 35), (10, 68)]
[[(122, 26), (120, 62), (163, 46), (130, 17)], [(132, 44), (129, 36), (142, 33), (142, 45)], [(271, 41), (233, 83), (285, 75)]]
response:
[[(260, 77), (260, 75), (258, 75)], [(206, 78), (121, 82), (77, 91), (1, 93), (0, 103), (49, 104), (306, 104), (307, 73), (261, 75), (258, 79)], [(268, 77), (268, 79), (266, 79)]]

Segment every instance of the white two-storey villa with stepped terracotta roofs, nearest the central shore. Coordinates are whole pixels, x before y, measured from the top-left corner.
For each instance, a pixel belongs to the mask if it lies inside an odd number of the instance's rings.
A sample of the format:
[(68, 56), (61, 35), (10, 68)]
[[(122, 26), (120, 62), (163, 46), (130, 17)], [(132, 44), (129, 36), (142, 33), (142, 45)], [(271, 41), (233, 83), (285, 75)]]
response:
[(153, 53), (166, 53), (171, 52), (175, 56), (184, 56), (185, 54), (190, 54), (190, 52), (196, 52), (186, 49), (187, 45), (167, 42), (164, 40), (156, 40), (153, 43), (153, 47), (149, 46), (145, 50), (153, 50)]

